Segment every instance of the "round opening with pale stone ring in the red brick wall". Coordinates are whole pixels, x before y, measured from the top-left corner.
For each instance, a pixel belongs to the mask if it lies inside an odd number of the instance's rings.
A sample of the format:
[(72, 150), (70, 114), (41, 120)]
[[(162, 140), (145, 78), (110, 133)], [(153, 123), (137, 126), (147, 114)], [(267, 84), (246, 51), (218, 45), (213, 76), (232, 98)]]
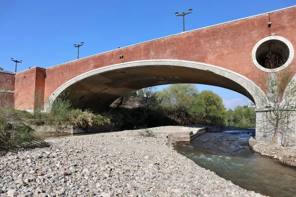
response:
[(260, 70), (277, 72), (292, 62), (294, 49), (284, 37), (268, 36), (255, 45), (252, 56), (255, 66)]

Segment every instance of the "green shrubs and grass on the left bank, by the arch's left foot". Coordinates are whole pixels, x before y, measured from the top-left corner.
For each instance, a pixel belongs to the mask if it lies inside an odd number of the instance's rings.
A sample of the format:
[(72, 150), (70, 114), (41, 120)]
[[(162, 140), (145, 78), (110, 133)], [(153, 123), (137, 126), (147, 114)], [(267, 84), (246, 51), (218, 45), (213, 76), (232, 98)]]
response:
[(88, 110), (73, 109), (69, 100), (61, 98), (56, 99), (50, 113), (42, 113), (40, 110), (30, 113), (2, 106), (0, 107), (0, 155), (22, 149), (48, 147), (49, 144), (34, 132), (35, 126), (47, 125), (59, 129), (72, 125), (87, 128), (110, 123), (110, 120), (102, 115), (93, 114)]

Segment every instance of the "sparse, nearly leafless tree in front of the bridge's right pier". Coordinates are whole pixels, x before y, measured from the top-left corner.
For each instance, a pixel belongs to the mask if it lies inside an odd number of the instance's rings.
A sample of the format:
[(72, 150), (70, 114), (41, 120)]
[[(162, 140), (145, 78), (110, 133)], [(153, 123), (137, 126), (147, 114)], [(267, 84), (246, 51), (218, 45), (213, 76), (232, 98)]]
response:
[[(296, 128), (296, 81), (288, 68), (281, 72), (274, 70), (283, 65), (276, 55), (268, 53), (266, 58), (265, 67), (271, 69), (271, 72), (265, 77), (266, 99), (259, 97), (265, 109), (258, 110), (258, 128), (264, 133), (264, 138), (271, 138), (271, 144), (280, 140), (278, 143), (287, 146), (292, 141), (290, 137), (294, 135)], [(260, 76), (260, 80), (262, 78)]]

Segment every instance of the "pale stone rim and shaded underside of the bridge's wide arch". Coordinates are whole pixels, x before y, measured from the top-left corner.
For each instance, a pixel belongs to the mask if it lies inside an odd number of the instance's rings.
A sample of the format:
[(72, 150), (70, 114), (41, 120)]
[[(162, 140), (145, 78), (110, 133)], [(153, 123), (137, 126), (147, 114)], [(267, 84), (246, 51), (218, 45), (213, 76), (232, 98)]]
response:
[(253, 81), (231, 70), (183, 60), (146, 60), (105, 66), (85, 72), (60, 86), (47, 100), (50, 111), (54, 100), (68, 93), (74, 108), (102, 111), (120, 96), (142, 88), (176, 83), (213, 85), (238, 92), (260, 106), (266, 98)]

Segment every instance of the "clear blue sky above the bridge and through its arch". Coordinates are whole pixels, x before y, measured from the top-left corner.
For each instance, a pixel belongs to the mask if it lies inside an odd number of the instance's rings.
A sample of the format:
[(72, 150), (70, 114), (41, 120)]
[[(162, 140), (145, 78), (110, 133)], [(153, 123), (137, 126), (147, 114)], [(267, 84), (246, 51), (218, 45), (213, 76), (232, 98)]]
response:
[[(295, 5), (295, 0), (1, 0), (0, 66), (14, 71), (50, 67), (117, 47), (183, 31), (215, 25)], [(244, 97), (233, 91), (211, 89), (233, 108)], [(233, 100), (234, 99), (234, 100)], [(235, 100), (236, 99), (236, 100)], [(232, 101), (233, 102), (232, 102)], [(229, 101), (229, 102), (228, 102)], [(228, 106), (229, 103), (232, 103)], [(239, 103), (240, 104), (240, 103)]]

